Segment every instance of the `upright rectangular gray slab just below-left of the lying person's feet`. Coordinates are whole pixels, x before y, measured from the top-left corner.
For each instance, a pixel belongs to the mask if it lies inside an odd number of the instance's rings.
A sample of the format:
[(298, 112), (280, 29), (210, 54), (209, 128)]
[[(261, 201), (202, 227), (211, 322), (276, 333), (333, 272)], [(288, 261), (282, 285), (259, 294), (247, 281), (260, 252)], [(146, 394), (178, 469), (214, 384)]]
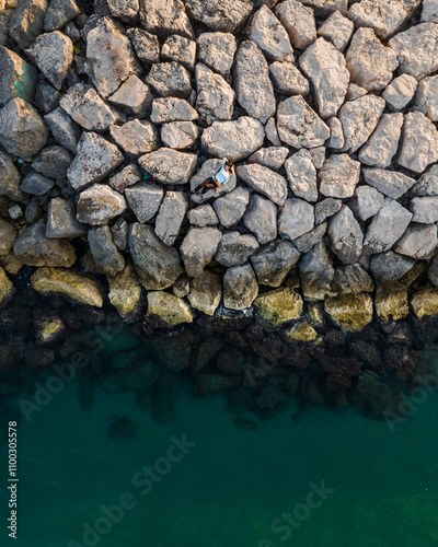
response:
[(182, 191), (166, 191), (155, 221), (155, 234), (166, 245), (173, 245), (188, 209), (188, 199)]

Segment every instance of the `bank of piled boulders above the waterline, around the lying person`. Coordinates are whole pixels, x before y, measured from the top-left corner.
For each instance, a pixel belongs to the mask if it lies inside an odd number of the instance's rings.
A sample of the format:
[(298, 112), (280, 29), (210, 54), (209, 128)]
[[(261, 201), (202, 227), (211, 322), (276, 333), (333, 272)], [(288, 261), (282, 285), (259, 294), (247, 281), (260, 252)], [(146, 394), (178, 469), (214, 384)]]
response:
[(31, 267), (152, 329), (437, 314), (438, 7), (389, 4), (0, 1), (0, 305)]

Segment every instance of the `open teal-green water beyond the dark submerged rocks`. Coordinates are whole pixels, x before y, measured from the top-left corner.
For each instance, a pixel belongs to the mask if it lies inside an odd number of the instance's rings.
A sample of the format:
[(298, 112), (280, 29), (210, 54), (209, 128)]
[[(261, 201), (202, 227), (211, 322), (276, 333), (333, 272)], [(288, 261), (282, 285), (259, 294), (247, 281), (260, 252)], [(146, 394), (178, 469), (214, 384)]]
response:
[[(199, 398), (184, 382), (166, 423), (139, 408), (134, 393), (96, 389), (83, 410), (77, 387), (65, 385), (19, 424), (19, 538), (8, 538), (2, 474), (2, 546), (436, 545), (436, 394), (393, 432), (353, 409), (299, 411), (293, 397), (272, 419), (246, 412), (257, 420), (253, 431), (235, 427), (224, 397)], [(110, 438), (114, 417), (131, 420), (137, 435)], [(168, 451), (183, 434), (189, 446), (171, 452), (170, 463)], [(5, 472), (4, 444), (0, 456)], [(159, 470), (154, 481), (145, 481), (145, 466)], [(310, 485), (322, 481), (323, 499), (309, 498)], [(102, 520), (101, 507), (120, 498), (118, 522)], [(102, 533), (83, 538), (84, 525)]]

